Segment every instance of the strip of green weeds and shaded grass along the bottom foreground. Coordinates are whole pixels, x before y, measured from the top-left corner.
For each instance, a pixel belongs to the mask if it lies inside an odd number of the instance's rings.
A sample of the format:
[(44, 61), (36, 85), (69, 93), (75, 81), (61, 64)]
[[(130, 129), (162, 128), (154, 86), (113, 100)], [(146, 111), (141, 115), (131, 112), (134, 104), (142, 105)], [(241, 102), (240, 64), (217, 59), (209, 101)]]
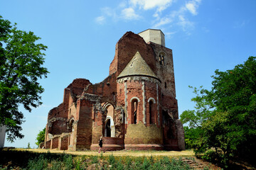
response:
[(17, 150), (0, 151), (0, 169), (190, 169), (181, 158), (73, 156)]

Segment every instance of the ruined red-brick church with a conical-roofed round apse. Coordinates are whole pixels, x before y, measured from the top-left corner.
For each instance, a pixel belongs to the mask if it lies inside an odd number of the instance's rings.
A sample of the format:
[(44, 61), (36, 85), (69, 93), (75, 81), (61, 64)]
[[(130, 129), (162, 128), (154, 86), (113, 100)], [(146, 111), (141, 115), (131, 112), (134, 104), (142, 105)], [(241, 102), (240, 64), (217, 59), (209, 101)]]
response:
[(75, 79), (65, 88), (41, 147), (95, 150), (101, 136), (104, 150), (185, 149), (173, 54), (161, 30), (125, 33), (105, 80)]

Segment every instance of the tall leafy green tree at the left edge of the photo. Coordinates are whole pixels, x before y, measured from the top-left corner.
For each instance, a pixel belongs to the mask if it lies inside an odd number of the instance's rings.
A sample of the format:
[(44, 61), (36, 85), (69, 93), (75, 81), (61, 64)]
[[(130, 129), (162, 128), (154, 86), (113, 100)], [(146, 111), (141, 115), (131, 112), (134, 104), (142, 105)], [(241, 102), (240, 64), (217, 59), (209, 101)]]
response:
[(38, 79), (46, 77), (43, 67), (46, 45), (33, 32), (18, 30), (16, 23), (0, 16), (0, 125), (6, 125), (7, 140), (22, 138), (23, 113), (18, 106), (31, 112), (41, 105), (43, 87)]

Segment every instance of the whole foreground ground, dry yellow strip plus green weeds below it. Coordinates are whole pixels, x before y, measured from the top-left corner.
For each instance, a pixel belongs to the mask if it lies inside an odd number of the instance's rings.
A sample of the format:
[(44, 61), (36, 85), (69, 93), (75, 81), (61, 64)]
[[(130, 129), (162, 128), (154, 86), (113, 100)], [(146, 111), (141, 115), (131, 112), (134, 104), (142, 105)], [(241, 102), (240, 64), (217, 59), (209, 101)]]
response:
[(3, 149), (0, 169), (220, 169), (192, 151), (92, 151)]

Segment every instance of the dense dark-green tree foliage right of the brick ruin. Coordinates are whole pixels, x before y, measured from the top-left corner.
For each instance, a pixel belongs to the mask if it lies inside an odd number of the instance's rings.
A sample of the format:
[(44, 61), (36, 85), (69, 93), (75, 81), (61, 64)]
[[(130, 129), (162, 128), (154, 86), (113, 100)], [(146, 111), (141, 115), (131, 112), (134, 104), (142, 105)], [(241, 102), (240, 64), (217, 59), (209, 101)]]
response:
[[(215, 157), (224, 164), (234, 157), (252, 158), (256, 151), (256, 57), (225, 72), (216, 70), (212, 84), (210, 91), (201, 89), (202, 95), (196, 97), (200, 107), (181, 115), (192, 128), (195, 120), (201, 120), (201, 135), (193, 141), (196, 153), (214, 148)], [(205, 105), (206, 110), (201, 109)]]

